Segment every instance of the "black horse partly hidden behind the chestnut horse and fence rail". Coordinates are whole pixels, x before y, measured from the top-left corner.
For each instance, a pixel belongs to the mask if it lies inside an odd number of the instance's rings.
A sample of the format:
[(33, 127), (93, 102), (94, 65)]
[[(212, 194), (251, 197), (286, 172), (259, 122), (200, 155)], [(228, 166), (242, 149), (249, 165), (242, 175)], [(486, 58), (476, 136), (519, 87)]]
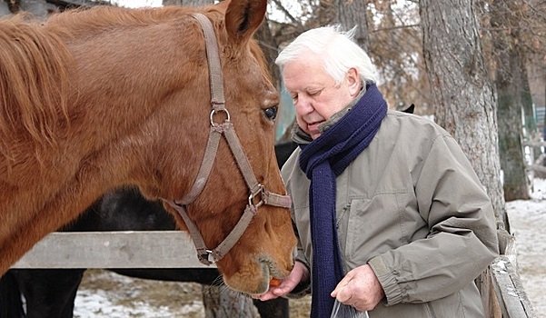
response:
[[(275, 145), (279, 168), (292, 154), (293, 142)], [(163, 204), (145, 200), (135, 188), (123, 188), (104, 194), (63, 231), (170, 231), (174, 218)], [(126, 276), (171, 282), (194, 282), (206, 286), (221, 283), (214, 268), (111, 269)], [(72, 318), (74, 299), (84, 269), (12, 269), (0, 281), (0, 318)], [(25, 296), (25, 310), (21, 302)], [(285, 298), (262, 302), (254, 300), (260, 316), (288, 317)]]

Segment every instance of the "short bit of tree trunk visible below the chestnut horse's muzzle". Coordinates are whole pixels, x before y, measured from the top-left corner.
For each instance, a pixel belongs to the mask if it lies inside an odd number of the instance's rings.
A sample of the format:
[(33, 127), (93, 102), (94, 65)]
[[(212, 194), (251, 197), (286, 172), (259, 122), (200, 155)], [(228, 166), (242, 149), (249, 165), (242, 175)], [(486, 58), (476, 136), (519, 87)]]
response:
[(252, 298), (233, 292), (224, 285), (203, 286), (204, 316), (206, 318), (253, 318)]

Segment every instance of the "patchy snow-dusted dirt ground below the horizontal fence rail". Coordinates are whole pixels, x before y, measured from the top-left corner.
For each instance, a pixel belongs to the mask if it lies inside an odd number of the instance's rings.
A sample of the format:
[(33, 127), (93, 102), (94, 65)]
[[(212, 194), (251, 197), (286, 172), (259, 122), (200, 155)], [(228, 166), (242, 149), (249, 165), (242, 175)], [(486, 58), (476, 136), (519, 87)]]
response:
[[(199, 283), (136, 279), (104, 270), (88, 270), (78, 290), (75, 318), (203, 318)], [(290, 317), (309, 317), (310, 297), (290, 301)], [(254, 310), (255, 317), (260, 317)]]

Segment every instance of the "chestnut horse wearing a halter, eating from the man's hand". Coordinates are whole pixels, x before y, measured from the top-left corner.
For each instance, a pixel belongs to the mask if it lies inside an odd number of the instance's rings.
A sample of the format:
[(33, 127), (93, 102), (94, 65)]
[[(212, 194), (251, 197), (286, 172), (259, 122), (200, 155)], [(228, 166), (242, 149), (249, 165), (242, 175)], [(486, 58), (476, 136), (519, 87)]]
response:
[[(268, 202), (285, 194), (273, 153), (278, 94), (252, 40), (266, 6), (98, 6), (45, 23), (0, 20), (0, 275), (106, 191), (127, 184), (176, 206), (165, 204), (187, 229), (184, 212), (210, 249), (247, 211), (255, 214), (233, 248), (214, 259), (234, 290), (264, 293), (272, 275), (290, 273), (290, 214)], [(195, 13), (213, 25), (225, 104), (211, 102), (219, 86), (209, 82), (218, 73), (209, 75), (211, 47)], [(233, 127), (243, 154), (230, 148)], [(207, 165), (213, 133), (226, 138), (207, 179), (200, 163)], [(260, 191), (249, 190), (249, 171)], [(188, 193), (194, 200), (186, 202)]]

